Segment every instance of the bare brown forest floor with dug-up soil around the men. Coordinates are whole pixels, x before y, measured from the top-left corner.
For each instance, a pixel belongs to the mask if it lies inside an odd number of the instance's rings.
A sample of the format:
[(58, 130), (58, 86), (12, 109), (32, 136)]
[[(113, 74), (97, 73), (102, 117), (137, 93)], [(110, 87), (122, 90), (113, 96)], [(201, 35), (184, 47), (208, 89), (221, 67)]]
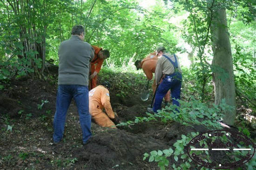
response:
[[(56, 92), (56, 83), (31, 78), (12, 80), (0, 91), (1, 170), (155, 170), (157, 163), (143, 160), (145, 152), (168, 149), (182, 134), (208, 131), (175, 122), (153, 121), (118, 129), (92, 123), (93, 137), (82, 145), (79, 116), (72, 102), (63, 140), (56, 146), (52, 139)], [(143, 102), (140, 90), (129, 98), (118, 93), (115, 88), (110, 90), (110, 99), (122, 122), (147, 116), (152, 94)], [(173, 157), (168, 160), (169, 167), (182, 163)]]

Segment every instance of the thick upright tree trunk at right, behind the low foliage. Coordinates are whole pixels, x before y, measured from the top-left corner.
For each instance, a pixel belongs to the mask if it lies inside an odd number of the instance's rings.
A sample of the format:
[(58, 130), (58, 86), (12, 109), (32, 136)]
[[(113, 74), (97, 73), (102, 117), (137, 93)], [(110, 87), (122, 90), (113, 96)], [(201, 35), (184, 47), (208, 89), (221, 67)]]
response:
[(219, 105), (222, 99), (225, 99), (225, 103), (232, 107), (223, 113), (225, 115), (223, 122), (233, 125), (236, 116), (236, 92), (225, 9), (216, 10), (213, 19), (215, 22), (212, 22), (210, 29), (214, 52), (212, 68), (216, 68), (213, 70), (215, 104)]

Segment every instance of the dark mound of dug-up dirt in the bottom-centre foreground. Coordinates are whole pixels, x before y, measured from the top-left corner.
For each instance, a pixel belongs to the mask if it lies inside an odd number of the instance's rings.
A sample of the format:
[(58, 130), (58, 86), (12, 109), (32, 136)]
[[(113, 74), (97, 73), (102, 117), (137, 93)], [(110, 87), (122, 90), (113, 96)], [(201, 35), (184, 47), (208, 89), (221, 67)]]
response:
[[(120, 130), (108, 130), (97, 134), (90, 142), (74, 153), (81, 161), (88, 162), (89, 169), (138, 170), (148, 169), (141, 154), (168, 146), (160, 140), (145, 135), (134, 135)], [(152, 168), (152, 167), (151, 167)]]

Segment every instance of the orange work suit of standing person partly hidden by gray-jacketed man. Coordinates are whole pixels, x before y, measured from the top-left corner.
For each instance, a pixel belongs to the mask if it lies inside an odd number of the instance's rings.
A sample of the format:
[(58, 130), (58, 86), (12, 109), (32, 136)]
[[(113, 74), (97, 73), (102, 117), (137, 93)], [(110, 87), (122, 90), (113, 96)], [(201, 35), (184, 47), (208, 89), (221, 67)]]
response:
[[(101, 66), (104, 62), (104, 59), (100, 59), (98, 57), (98, 53), (102, 50), (102, 48), (97, 46), (92, 46), (92, 47), (94, 48), (95, 52), (94, 52), (94, 59), (91, 61), (91, 74), (93, 74), (94, 72), (99, 73), (101, 70)], [(90, 80), (89, 90), (92, 90), (94, 87), (96, 87), (96, 84), (97, 84), (97, 75)]]

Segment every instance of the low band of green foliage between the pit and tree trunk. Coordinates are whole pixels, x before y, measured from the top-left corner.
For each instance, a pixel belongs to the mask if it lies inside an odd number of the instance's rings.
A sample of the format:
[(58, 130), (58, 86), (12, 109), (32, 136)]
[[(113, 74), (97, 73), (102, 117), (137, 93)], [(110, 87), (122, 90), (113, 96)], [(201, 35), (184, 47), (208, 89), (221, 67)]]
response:
[(212, 106), (203, 104), (194, 98), (190, 102), (180, 100), (180, 103), (180, 107), (166, 106), (155, 114), (147, 113), (148, 117), (135, 117), (135, 121), (121, 122), (118, 126), (149, 121), (161, 121), (162, 123), (175, 121), (183, 125), (200, 124), (206, 128), (221, 129), (222, 126), (218, 121), (224, 117), (222, 112), (230, 109), (230, 106), (225, 104), (225, 100), (222, 100), (220, 105), (213, 104)]

